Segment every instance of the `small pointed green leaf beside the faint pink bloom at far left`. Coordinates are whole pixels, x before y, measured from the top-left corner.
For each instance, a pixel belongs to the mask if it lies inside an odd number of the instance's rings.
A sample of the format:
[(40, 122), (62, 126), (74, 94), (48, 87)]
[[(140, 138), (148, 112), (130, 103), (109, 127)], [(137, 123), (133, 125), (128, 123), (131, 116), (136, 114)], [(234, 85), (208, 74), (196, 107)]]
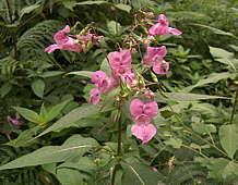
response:
[(13, 109), (16, 110), (24, 119), (28, 120), (29, 122), (33, 123), (39, 123), (39, 115), (26, 108), (20, 108), (20, 107), (13, 107)]

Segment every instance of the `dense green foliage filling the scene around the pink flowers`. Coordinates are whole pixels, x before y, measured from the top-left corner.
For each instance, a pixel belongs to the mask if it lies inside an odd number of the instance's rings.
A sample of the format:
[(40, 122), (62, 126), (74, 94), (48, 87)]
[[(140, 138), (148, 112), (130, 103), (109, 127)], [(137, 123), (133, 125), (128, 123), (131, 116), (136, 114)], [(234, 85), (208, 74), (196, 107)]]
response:
[[(0, 12), (0, 184), (237, 184), (236, 0), (2, 0)], [(151, 44), (167, 48), (166, 75), (140, 69), (147, 12), (182, 32)], [(69, 36), (104, 37), (82, 52), (45, 52), (66, 25)], [(122, 119), (117, 90), (90, 104), (93, 72), (110, 71), (108, 53), (127, 48), (129, 35), (138, 39), (132, 65), (152, 82), (159, 110), (146, 144), (131, 134), (132, 97)]]

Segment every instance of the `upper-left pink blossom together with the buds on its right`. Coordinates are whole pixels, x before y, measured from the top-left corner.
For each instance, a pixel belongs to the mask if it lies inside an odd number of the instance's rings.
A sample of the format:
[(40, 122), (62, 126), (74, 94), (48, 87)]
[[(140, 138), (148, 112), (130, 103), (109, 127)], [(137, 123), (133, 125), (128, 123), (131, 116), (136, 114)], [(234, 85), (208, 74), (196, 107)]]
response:
[(75, 38), (72, 38), (66, 34), (70, 33), (70, 26), (66, 26), (62, 30), (59, 30), (53, 36), (53, 39), (56, 41), (55, 45), (48, 46), (45, 51), (50, 53), (57, 49), (60, 50), (68, 50), (68, 51), (86, 51), (87, 50), (87, 44), (92, 41), (92, 44), (99, 44), (102, 40), (102, 36), (96, 36), (95, 34), (86, 33), (84, 35), (76, 35)]

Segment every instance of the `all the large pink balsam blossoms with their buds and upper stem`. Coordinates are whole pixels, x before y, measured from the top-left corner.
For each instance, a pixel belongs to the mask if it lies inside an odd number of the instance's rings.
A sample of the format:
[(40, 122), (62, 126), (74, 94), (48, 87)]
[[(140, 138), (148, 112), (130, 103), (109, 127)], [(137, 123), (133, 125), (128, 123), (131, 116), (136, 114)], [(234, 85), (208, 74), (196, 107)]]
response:
[[(146, 14), (152, 17), (151, 13)], [(153, 24), (156, 22), (156, 24)], [(136, 37), (132, 33), (139, 26), (145, 25), (148, 29), (145, 30), (145, 36)], [(103, 39), (102, 36), (92, 34), (90, 28), (84, 29), (79, 35), (70, 36), (70, 27), (66, 26), (62, 30), (55, 35), (55, 45), (50, 45), (45, 49), (46, 52), (52, 52), (56, 49), (69, 50), (74, 52), (87, 51), (88, 46), (98, 45)], [(157, 133), (156, 126), (153, 124), (153, 118), (158, 113), (158, 106), (154, 99), (154, 92), (150, 89), (150, 85), (139, 69), (132, 65), (132, 55), (136, 52), (136, 47), (140, 44), (145, 46), (146, 53), (142, 55), (139, 67), (145, 67), (157, 75), (165, 75), (169, 71), (169, 62), (164, 58), (167, 54), (165, 46), (151, 46), (155, 41), (155, 37), (163, 35), (180, 35), (181, 32), (169, 27), (169, 23), (164, 14), (158, 15), (158, 20), (141, 20), (141, 23), (133, 25), (131, 34), (126, 36), (122, 44), (127, 44), (128, 48), (119, 47), (118, 51), (109, 52), (107, 61), (110, 66), (110, 77), (104, 71), (96, 71), (91, 76), (91, 82), (94, 88), (90, 91), (90, 103), (99, 104), (102, 96), (109, 91), (119, 88), (119, 94), (115, 98), (117, 108), (116, 120), (118, 122), (118, 149), (117, 156), (122, 153), (121, 149), (121, 132), (122, 132), (122, 106), (129, 101), (129, 110), (131, 120), (134, 124), (131, 126), (131, 134), (142, 141), (148, 143)], [(120, 44), (117, 44), (119, 46)], [(152, 73), (153, 73), (152, 72)], [(156, 83), (155, 83), (156, 84)], [(157, 83), (158, 85), (158, 83)], [(116, 169), (116, 168), (115, 168)], [(153, 169), (152, 169), (153, 171)], [(112, 175), (116, 174), (114, 170)], [(112, 177), (114, 184), (115, 177)]]

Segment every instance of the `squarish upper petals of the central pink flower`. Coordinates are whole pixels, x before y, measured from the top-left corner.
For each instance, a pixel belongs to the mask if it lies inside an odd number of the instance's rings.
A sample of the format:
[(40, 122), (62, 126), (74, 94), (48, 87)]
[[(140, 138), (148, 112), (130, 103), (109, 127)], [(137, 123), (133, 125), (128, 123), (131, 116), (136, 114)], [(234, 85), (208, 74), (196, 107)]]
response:
[(131, 51), (121, 50), (119, 52), (110, 52), (108, 54), (111, 69), (130, 66), (131, 64)]

